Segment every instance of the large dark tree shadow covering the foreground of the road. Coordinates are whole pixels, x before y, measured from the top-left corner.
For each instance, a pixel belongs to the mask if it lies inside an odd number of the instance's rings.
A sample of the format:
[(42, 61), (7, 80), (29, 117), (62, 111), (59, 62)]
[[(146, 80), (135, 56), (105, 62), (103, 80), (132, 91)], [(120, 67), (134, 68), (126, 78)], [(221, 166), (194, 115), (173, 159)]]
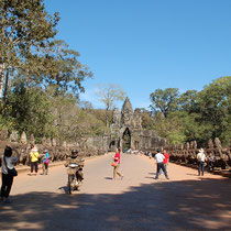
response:
[(231, 180), (166, 182), (121, 195), (30, 193), (0, 205), (1, 230), (231, 230)]

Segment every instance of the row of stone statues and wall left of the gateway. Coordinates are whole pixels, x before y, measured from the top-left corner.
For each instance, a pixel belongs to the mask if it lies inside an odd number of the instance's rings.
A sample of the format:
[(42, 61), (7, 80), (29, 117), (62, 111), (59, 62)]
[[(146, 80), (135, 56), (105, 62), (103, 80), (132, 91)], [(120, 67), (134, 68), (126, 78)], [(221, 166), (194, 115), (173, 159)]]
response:
[[(78, 143), (59, 142), (56, 139), (43, 138), (41, 143), (35, 143), (34, 135), (30, 135), (28, 140), (26, 134), (23, 132), (21, 135), (16, 131), (8, 135), (7, 130), (0, 133), (0, 155), (3, 154), (4, 147), (10, 145), (15, 147), (20, 155), (20, 164), (29, 165), (30, 158), (30, 144), (33, 143), (37, 146), (38, 153), (43, 154), (45, 150), (52, 157), (52, 161), (64, 161), (70, 155), (73, 148), (79, 151), (79, 155), (87, 157), (94, 155), (102, 155), (108, 151), (108, 136), (95, 136), (82, 140)], [(13, 154), (15, 155), (15, 154)], [(41, 161), (41, 160), (40, 160)]]

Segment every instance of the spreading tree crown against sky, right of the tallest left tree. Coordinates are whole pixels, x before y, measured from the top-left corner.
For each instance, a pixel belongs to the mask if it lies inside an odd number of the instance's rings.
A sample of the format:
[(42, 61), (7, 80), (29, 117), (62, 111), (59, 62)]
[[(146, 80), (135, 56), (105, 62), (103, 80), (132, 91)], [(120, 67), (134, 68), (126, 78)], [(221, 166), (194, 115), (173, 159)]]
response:
[(69, 50), (64, 41), (53, 41), (44, 50), (40, 82), (45, 88), (53, 86), (55, 96), (72, 92), (78, 97), (79, 92), (84, 92), (81, 82), (87, 77), (92, 77), (92, 73), (78, 61), (79, 53)]

